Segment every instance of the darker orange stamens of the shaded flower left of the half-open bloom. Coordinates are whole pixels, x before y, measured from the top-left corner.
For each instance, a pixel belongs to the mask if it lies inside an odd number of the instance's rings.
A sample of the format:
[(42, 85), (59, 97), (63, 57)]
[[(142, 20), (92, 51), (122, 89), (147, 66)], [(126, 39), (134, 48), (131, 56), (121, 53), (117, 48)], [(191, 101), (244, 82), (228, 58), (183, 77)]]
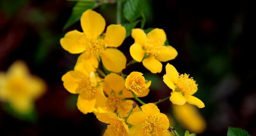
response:
[(120, 96), (109, 96), (106, 100), (106, 110), (108, 112), (117, 112), (117, 108), (120, 107), (122, 99)]

